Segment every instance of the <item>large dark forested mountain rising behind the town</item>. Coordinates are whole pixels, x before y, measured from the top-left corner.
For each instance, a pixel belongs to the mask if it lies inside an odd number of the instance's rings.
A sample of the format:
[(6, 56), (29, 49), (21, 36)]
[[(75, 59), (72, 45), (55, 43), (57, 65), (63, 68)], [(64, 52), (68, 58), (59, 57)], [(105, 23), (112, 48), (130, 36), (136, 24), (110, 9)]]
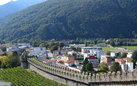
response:
[(0, 38), (135, 38), (136, 8), (137, 0), (48, 0), (1, 19)]

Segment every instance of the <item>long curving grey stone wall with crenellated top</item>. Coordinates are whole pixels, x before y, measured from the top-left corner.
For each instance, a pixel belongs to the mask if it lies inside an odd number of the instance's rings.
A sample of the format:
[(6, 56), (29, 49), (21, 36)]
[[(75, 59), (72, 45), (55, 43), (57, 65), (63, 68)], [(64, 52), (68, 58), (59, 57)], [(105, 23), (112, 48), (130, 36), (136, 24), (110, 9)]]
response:
[[(105, 74), (77, 72), (50, 64), (39, 65), (28, 59), (30, 69), (51, 80), (69, 86), (137, 86), (137, 71)], [(40, 61), (39, 61), (40, 62)]]

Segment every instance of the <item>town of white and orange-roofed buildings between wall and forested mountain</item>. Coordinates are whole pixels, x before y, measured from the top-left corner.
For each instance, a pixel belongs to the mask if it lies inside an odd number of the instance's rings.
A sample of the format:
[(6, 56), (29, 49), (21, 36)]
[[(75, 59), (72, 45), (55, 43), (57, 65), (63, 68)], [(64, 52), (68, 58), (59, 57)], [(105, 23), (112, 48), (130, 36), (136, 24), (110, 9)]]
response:
[[(53, 45), (52, 49), (46, 49), (32, 47), (30, 43), (15, 43), (7, 47), (5, 52), (6, 54), (15, 51), (21, 54), (27, 53), (29, 57), (43, 63), (67, 67), (79, 72), (133, 71), (136, 68), (136, 60), (132, 58), (134, 51), (126, 48), (106, 45), (114, 50), (103, 50), (104, 47), (97, 45), (90, 47), (86, 44), (69, 44), (66, 41), (60, 44), (63, 46)], [(88, 63), (89, 69), (86, 68)]]

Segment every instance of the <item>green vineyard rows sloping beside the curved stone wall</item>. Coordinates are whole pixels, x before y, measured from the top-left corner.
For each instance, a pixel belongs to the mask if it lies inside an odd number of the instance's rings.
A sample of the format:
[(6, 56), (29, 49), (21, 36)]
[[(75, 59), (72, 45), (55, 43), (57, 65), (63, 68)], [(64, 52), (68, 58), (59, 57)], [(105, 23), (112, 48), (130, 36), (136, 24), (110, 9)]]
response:
[(11, 82), (15, 86), (66, 86), (21, 67), (0, 70), (0, 81)]

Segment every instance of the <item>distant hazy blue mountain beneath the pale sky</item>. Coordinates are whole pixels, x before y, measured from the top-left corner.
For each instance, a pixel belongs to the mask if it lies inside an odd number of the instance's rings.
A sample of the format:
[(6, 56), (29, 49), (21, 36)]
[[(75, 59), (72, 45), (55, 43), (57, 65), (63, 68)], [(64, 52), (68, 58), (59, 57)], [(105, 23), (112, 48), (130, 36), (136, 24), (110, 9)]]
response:
[(17, 0), (0, 6), (0, 18), (46, 0)]

